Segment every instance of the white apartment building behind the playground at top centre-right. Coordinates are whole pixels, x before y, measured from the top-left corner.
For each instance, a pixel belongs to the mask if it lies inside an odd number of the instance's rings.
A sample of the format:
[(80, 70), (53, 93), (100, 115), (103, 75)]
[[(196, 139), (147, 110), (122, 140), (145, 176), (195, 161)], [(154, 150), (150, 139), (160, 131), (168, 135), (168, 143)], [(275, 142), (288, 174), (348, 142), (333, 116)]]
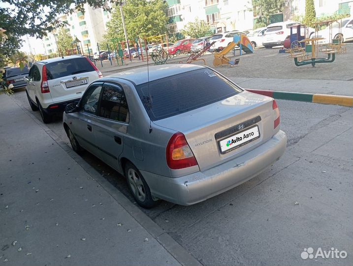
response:
[(171, 32), (178, 33), (196, 17), (205, 20), (214, 32), (253, 29), (249, 0), (166, 0)]

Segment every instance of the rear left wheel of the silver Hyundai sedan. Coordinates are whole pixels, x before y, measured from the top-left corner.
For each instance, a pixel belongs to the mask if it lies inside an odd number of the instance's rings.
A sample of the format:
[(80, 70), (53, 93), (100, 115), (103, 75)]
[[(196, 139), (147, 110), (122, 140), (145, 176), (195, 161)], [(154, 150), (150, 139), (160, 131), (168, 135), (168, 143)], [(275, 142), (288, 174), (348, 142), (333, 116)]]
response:
[(130, 162), (127, 162), (125, 165), (125, 177), (134, 199), (141, 207), (152, 208), (157, 204), (157, 200), (153, 199), (150, 187), (147, 185), (142, 174)]

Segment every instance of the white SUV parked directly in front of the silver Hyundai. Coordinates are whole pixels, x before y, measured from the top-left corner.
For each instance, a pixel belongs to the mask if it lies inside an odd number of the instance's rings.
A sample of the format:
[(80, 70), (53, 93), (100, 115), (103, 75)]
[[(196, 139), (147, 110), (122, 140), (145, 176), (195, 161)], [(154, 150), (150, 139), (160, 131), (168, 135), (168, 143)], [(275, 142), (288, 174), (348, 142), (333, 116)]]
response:
[(52, 115), (63, 113), (71, 102), (80, 100), (82, 94), (102, 73), (84, 56), (65, 56), (35, 62), (31, 67), (26, 93), (33, 111), (39, 109), (44, 123)]

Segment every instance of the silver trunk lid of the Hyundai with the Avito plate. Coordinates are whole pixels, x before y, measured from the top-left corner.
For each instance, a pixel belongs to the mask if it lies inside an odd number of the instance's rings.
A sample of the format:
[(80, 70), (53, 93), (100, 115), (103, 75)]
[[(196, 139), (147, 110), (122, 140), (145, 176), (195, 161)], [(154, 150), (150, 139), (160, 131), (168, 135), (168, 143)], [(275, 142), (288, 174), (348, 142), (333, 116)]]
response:
[(272, 98), (242, 92), (154, 123), (183, 133), (202, 171), (240, 156), (272, 137)]

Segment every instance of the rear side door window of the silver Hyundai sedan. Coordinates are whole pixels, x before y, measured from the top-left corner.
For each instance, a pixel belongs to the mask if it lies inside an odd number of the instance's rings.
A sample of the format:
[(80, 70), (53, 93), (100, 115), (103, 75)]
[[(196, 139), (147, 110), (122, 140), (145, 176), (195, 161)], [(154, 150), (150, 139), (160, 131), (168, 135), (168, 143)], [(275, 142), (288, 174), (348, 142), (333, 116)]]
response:
[(123, 88), (104, 84), (99, 105), (99, 116), (118, 122), (129, 122), (128, 102)]

